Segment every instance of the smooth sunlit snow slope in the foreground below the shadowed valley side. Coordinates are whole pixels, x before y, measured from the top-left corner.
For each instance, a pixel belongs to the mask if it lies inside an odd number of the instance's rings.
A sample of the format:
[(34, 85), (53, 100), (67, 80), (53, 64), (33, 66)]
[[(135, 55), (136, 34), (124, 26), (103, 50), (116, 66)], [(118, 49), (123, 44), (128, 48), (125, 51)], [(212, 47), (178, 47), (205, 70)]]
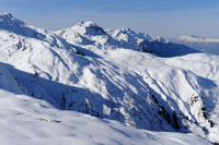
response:
[(137, 130), (111, 120), (57, 110), (44, 100), (2, 88), (0, 130), (2, 145), (210, 144), (193, 134)]

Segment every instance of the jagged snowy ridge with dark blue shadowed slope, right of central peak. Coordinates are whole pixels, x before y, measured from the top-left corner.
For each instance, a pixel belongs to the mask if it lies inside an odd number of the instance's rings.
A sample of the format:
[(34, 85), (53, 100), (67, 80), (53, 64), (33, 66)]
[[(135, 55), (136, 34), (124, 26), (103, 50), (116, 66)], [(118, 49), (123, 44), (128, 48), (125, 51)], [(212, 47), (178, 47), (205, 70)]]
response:
[(137, 33), (130, 28), (106, 31), (114, 39), (123, 44), (123, 48), (134, 46), (137, 50), (150, 52), (159, 57), (176, 57), (199, 51), (183, 45), (176, 45), (158, 36), (153, 37), (147, 33)]

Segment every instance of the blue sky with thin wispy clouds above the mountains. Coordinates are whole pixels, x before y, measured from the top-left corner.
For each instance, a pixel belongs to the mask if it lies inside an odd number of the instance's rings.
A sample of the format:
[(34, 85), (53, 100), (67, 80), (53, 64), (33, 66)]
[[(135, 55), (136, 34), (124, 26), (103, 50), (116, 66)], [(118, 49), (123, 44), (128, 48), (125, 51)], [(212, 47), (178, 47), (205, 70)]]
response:
[(0, 0), (0, 10), (49, 31), (93, 21), (105, 29), (130, 27), (166, 39), (219, 38), (219, 0)]

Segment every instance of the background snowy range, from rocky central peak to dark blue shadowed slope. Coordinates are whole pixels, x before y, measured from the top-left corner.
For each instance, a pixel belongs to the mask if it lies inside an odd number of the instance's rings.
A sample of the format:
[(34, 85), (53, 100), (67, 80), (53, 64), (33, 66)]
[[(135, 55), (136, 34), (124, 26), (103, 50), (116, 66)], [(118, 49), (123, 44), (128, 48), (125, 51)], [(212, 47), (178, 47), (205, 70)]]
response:
[(153, 37), (147, 33), (137, 33), (128, 27), (106, 29), (93, 22), (80, 22), (77, 25), (55, 32), (58, 36), (73, 45), (93, 45), (100, 49), (126, 48), (150, 52), (159, 57), (176, 57), (197, 53), (193, 48), (170, 43), (162, 37)]

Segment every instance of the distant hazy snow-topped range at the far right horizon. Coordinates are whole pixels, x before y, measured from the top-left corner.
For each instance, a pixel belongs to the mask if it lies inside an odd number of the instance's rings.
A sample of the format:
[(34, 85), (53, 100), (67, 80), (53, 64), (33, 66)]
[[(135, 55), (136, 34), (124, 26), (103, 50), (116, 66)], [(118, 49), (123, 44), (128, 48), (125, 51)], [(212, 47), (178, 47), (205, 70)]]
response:
[(219, 39), (204, 38), (203, 36), (181, 36), (174, 43), (186, 45), (199, 51), (219, 55)]

